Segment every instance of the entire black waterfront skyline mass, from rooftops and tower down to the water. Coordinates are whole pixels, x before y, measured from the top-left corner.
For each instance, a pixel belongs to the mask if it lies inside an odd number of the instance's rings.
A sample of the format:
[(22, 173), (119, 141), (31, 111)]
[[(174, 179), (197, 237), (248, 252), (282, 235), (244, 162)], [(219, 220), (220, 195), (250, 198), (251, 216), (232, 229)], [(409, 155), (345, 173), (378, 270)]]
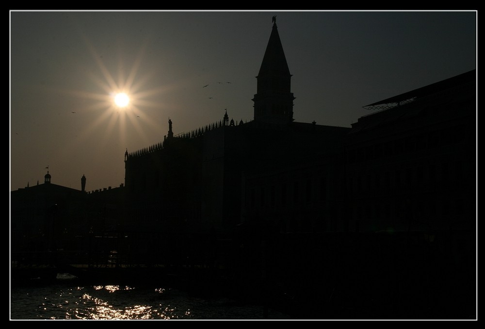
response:
[(48, 173), (11, 192), (12, 283), (177, 278), (306, 318), (475, 319), (476, 71), (352, 128), (294, 122), (294, 99), (274, 22), (254, 120), (170, 120), (113, 189)]

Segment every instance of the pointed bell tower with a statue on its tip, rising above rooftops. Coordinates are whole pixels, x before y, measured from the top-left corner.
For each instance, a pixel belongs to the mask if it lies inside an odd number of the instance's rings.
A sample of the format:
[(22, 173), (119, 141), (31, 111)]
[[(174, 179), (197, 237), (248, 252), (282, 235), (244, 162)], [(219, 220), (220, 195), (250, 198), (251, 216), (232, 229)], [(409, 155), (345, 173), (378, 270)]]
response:
[(285, 124), (293, 121), (291, 74), (273, 16), (273, 29), (264, 53), (254, 102), (254, 120)]

